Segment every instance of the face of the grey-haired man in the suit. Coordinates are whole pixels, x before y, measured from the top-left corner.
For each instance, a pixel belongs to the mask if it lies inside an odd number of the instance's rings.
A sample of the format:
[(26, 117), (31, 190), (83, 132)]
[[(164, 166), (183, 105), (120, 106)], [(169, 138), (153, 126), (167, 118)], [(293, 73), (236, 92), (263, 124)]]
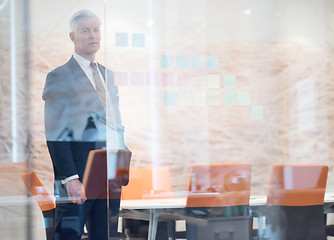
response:
[(83, 17), (78, 20), (78, 28), (70, 33), (75, 52), (79, 55), (91, 56), (100, 49), (100, 22), (96, 17)]

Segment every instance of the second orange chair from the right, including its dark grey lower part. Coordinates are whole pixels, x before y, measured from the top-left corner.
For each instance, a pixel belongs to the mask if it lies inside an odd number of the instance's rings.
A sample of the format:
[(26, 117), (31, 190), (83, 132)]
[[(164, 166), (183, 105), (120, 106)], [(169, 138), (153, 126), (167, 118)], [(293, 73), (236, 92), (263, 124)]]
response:
[(194, 220), (186, 221), (187, 239), (249, 239), (250, 186), (250, 164), (193, 165), (186, 214)]

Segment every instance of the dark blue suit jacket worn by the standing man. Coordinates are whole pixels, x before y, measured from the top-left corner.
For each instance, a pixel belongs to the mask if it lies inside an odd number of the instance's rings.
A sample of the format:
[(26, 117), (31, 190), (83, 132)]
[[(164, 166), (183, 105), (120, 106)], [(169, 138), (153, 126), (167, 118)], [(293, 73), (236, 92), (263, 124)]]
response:
[[(99, 69), (104, 79), (107, 79), (110, 99), (108, 116), (96, 90), (73, 57), (47, 75), (43, 92), (45, 134), (56, 180), (75, 174), (82, 180), (89, 151), (99, 148), (99, 143), (106, 141), (106, 132), (92, 142), (82, 139), (91, 112), (107, 119), (108, 129), (113, 136), (108, 141), (113, 143), (113, 148), (126, 148), (113, 72), (106, 72), (102, 65), (99, 65)], [(70, 136), (62, 136), (64, 132), (69, 132)]]

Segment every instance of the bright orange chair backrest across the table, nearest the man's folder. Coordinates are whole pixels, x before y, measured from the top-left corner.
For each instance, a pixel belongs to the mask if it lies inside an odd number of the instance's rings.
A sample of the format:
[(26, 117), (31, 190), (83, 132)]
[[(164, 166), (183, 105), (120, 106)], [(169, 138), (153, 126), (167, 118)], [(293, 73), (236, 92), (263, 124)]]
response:
[(130, 168), (129, 184), (122, 187), (123, 200), (173, 198), (168, 168)]

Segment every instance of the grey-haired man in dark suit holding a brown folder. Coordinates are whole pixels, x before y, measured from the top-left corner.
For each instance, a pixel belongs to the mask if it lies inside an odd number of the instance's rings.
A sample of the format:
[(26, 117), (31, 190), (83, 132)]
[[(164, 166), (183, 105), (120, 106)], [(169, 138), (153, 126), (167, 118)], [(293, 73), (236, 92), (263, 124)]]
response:
[(88, 10), (71, 17), (74, 54), (48, 73), (45, 82), (45, 135), (56, 197), (50, 239), (81, 239), (84, 225), (90, 239), (117, 237), (131, 153), (118, 151), (126, 146), (113, 73), (95, 60), (100, 26), (101, 20)]

